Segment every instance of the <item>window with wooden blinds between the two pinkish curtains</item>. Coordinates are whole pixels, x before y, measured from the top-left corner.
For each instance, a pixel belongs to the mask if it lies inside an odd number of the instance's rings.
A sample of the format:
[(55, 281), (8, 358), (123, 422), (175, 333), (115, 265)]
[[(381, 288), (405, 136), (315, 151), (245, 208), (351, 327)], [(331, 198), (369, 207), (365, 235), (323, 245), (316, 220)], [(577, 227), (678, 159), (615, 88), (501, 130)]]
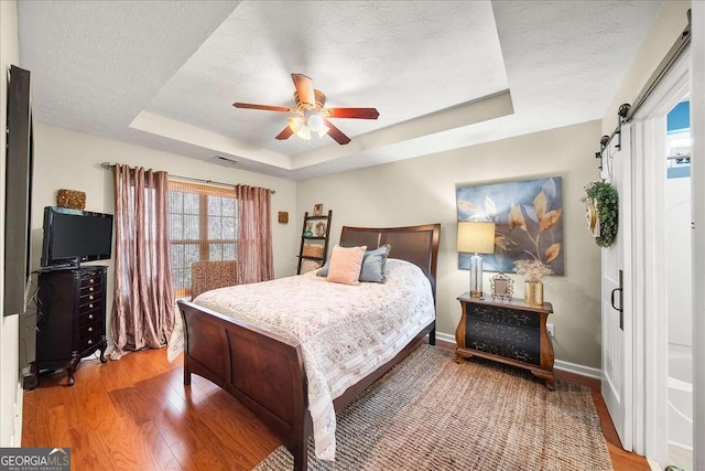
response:
[(238, 205), (235, 189), (170, 180), (169, 234), (174, 295), (191, 293), (191, 264), (235, 260)]

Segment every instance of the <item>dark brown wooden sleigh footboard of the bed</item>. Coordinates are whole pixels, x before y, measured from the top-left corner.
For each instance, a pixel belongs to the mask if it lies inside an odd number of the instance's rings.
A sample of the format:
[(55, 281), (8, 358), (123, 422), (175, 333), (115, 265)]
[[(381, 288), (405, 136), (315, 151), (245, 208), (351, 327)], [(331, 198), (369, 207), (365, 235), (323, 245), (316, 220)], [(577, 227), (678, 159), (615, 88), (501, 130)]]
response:
[[(178, 301), (184, 321), (184, 384), (195, 373), (252, 411), (306, 469), (311, 435), (301, 346), (209, 309)], [(299, 462), (303, 460), (303, 462)]]

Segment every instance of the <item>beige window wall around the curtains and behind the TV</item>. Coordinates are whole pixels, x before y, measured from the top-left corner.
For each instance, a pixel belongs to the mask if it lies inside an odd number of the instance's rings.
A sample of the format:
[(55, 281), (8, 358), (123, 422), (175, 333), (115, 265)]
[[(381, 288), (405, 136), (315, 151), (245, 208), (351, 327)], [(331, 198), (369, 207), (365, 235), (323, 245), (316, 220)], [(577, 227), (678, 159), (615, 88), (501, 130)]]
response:
[[(62, 128), (34, 126), (34, 185), (32, 195), (32, 254), (33, 267), (39, 267), (44, 206), (56, 204), (59, 189), (86, 192), (86, 210), (113, 214), (112, 172), (100, 167), (101, 162), (119, 162), (164, 170), (174, 175), (192, 176), (226, 183), (245, 183), (275, 190), (272, 195), (272, 239), (274, 272), (276, 277), (295, 272), (299, 225), (276, 222), (278, 211), (295, 214), (296, 184), (293, 181), (246, 172), (185, 157), (160, 152), (109, 139), (88, 136)], [(99, 263), (96, 263), (99, 264)], [(102, 265), (113, 266), (113, 260)], [(113, 270), (108, 270), (108, 325), (112, 306)], [(34, 319), (30, 319), (31, 322)], [(31, 336), (31, 335), (30, 335)], [(111, 344), (108, 328), (108, 343)], [(29, 352), (34, 344), (28, 339)], [(33, 354), (28, 353), (28, 360)], [(23, 358), (23, 365), (26, 361)]]

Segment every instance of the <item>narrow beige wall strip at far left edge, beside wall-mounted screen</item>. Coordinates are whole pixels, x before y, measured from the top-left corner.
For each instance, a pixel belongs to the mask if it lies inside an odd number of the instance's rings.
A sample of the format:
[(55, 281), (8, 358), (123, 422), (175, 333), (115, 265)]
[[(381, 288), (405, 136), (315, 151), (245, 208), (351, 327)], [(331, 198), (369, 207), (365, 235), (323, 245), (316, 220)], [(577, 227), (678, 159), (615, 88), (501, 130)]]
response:
[[(18, 6), (15, 1), (0, 1), (0, 260), (4, 260), (4, 178), (6, 178), (6, 124), (8, 75), (10, 64), (21, 65), (18, 40)], [(3, 270), (0, 270), (0, 287), (4, 286)], [(0, 310), (4, 293), (0, 289)], [(11, 313), (11, 312), (4, 312)], [(0, 447), (20, 445), (22, 435), (22, 395), (18, 394), (19, 385), (19, 315), (0, 319)], [(15, 419), (15, 404), (18, 419)]]

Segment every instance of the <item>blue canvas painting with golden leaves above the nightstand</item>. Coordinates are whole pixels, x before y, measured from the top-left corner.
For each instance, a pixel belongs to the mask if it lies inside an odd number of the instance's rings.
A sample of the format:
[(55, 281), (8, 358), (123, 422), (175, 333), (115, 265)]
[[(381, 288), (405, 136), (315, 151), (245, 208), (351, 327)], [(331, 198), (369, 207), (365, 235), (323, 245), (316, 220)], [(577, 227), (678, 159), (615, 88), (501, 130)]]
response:
[[(458, 222), (495, 223), (495, 253), (482, 255), (485, 271), (514, 272), (517, 260), (541, 260), (564, 275), (561, 176), (456, 186)], [(458, 253), (458, 268), (473, 254)]]

